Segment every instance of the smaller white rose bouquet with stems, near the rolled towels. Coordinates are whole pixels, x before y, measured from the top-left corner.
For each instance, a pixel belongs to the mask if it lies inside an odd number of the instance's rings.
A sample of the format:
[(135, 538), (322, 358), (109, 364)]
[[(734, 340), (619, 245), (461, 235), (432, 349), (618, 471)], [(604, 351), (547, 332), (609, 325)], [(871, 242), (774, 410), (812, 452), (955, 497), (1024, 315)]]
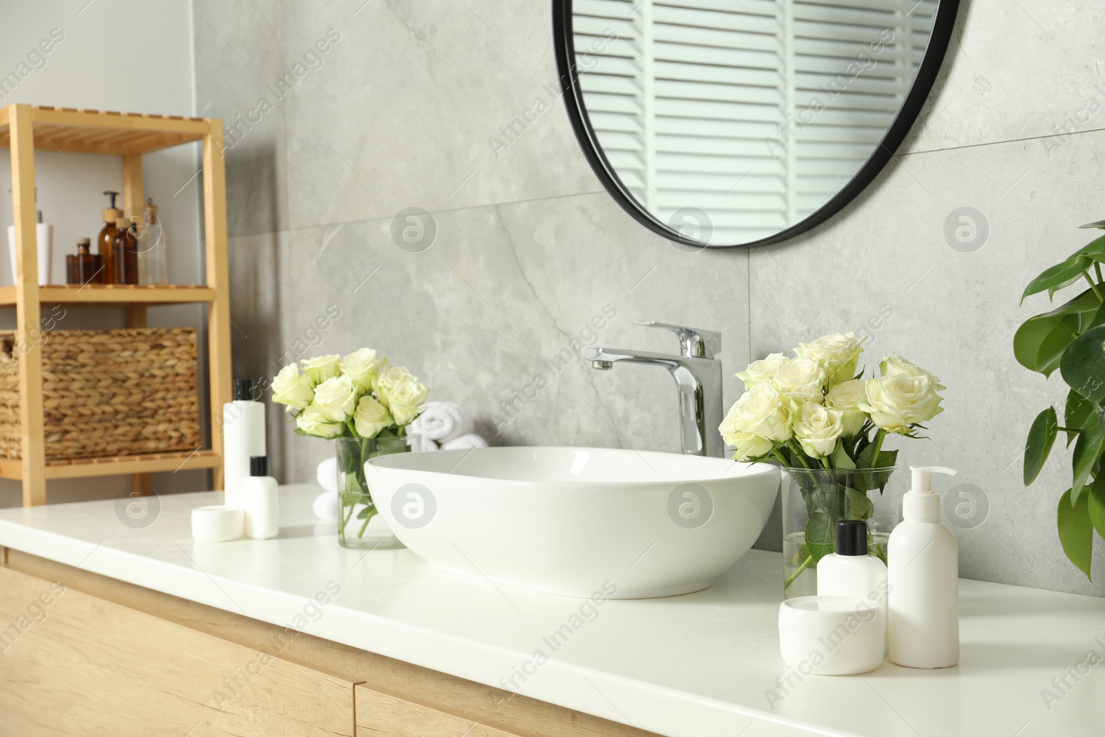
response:
[(402, 366), (391, 366), (371, 348), (291, 364), (273, 379), (273, 401), (287, 406), (295, 432), (337, 440), (338, 539), (343, 545), (347, 545), (346, 525), (359, 520), (360, 538), (377, 514), (365, 480), (365, 461), (410, 450), (407, 425), (429, 396), (418, 377)]

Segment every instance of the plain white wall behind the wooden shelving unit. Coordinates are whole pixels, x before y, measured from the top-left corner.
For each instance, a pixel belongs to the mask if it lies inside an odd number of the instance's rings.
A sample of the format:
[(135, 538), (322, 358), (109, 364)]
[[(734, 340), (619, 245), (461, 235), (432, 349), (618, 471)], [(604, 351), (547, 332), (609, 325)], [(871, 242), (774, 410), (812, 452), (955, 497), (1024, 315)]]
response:
[[(192, 10), (187, 2), (65, 0), (0, 3), (0, 77), (24, 76), (0, 88), (0, 105), (29, 103), (164, 115), (194, 115)], [(200, 21), (202, 22), (202, 21)], [(49, 54), (36, 55), (42, 39), (63, 35)], [(31, 54), (30, 60), (28, 54)], [(22, 66), (21, 66), (22, 64)], [(38, 67), (38, 69), (35, 69)], [(24, 74), (25, 73), (25, 74)], [(169, 243), (169, 281), (201, 283), (200, 182), (198, 145), (148, 155), (146, 196), (158, 203)], [(95, 239), (103, 227), (104, 190), (123, 189), (117, 157), (35, 152), (39, 209), (54, 224), (53, 281), (65, 282), (65, 254), (81, 236)], [(10, 156), (0, 151), (3, 189), (11, 178)], [(186, 182), (188, 182), (186, 185)], [(11, 224), (11, 198), (0, 197), (0, 224)], [(0, 284), (11, 284), (7, 240), (0, 242)], [(150, 309), (150, 325), (200, 326), (198, 306)], [(0, 310), (0, 328), (14, 325), (14, 310)], [(122, 327), (122, 310), (69, 309), (59, 329)], [(194, 491), (203, 472), (155, 474), (158, 492)], [(51, 482), (50, 502), (104, 498), (129, 489), (128, 476)], [(0, 482), (0, 507), (21, 504), (20, 484)]]

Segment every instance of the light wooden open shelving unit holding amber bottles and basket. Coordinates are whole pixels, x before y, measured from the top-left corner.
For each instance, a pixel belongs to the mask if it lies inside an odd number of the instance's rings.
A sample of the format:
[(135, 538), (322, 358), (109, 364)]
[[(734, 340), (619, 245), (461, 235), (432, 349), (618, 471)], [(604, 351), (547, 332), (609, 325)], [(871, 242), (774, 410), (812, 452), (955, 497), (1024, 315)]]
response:
[[(202, 141), (203, 221), (207, 284), (202, 286), (88, 285), (39, 286), (34, 235), (34, 150), (105, 154), (123, 157), (123, 207), (139, 211), (143, 193), (141, 155)], [(11, 149), (14, 213), (15, 285), (0, 287), (0, 306), (15, 307), (15, 333), (40, 329), (43, 305), (126, 307), (130, 327), (145, 327), (147, 308), (207, 303), (208, 376), (211, 417), (220, 417), (231, 399), (230, 293), (227, 269), (227, 199), (222, 158), (222, 120), (138, 115), (75, 108), (9, 105), (0, 107), (0, 145)], [(222, 488), (222, 436), (209, 433), (211, 448), (188, 453), (155, 453), (115, 457), (46, 461), (43, 448), (42, 357), (31, 350), (19, 362), (22, 460), (0, 460), (0, 478), (23, 482), (23, 505), (45, 504), (46, 481), (101, 475), (133, 475), (135, 489), (149, 489), (158, 471), (211, 468), (214, 488)]]

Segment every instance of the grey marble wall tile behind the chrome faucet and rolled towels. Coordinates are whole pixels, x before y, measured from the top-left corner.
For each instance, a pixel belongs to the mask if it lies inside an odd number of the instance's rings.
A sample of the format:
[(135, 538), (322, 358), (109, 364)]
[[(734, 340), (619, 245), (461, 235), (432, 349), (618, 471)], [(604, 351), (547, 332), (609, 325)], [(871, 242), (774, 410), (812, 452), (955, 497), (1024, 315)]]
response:
[[(267, 304), (280, 295), (278, 306), (243, 307), (234, 319), (252, 334), (273, 309), (281, 343), (251, 338), (243, 350), (235, 331), (242, 370), (278, 362), (319, 315), (337, 312), (306, 356), (377, 348), (434, 397), (469, 408), (493, 444), (677, 452), (675, 388), (664, 371), (594, 371), (568, 358), (572, 348), (674, 352), (674, 336), (632, 325), (655, 318), (722, 330), (727, 373), (747, 362), (744, 252), (677, 251), (619, 222), (629, 219), (606, 194), (444, 211), (435, 220), (436, 241), (422, 253), (394, 244), (390, 219), (284, 232), (272, 262), (259, 257), (275, 239), (234, 239), (232, 261), (278, 264), (271, 286), (259, 276), (240, 299)], [(726, 390), (733, 401), (735, 380)], [(330, 452), (329, 443), (277, 424), (270, 442), (284, 454), (288, 482), (313, 478)]]

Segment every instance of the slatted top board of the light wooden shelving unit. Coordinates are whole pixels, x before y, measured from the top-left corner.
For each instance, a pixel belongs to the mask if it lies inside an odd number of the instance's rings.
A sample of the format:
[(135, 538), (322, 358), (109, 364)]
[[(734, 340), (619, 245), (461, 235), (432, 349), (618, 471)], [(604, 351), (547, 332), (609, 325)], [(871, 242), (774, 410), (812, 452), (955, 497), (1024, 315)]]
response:
[[(10, 114), (0, 115), (0, 145), (11, 141)], [(34, 148), (77, 154), (148, 154), (203, 140), (208, 122), (182, 116), (31, 106)]]

